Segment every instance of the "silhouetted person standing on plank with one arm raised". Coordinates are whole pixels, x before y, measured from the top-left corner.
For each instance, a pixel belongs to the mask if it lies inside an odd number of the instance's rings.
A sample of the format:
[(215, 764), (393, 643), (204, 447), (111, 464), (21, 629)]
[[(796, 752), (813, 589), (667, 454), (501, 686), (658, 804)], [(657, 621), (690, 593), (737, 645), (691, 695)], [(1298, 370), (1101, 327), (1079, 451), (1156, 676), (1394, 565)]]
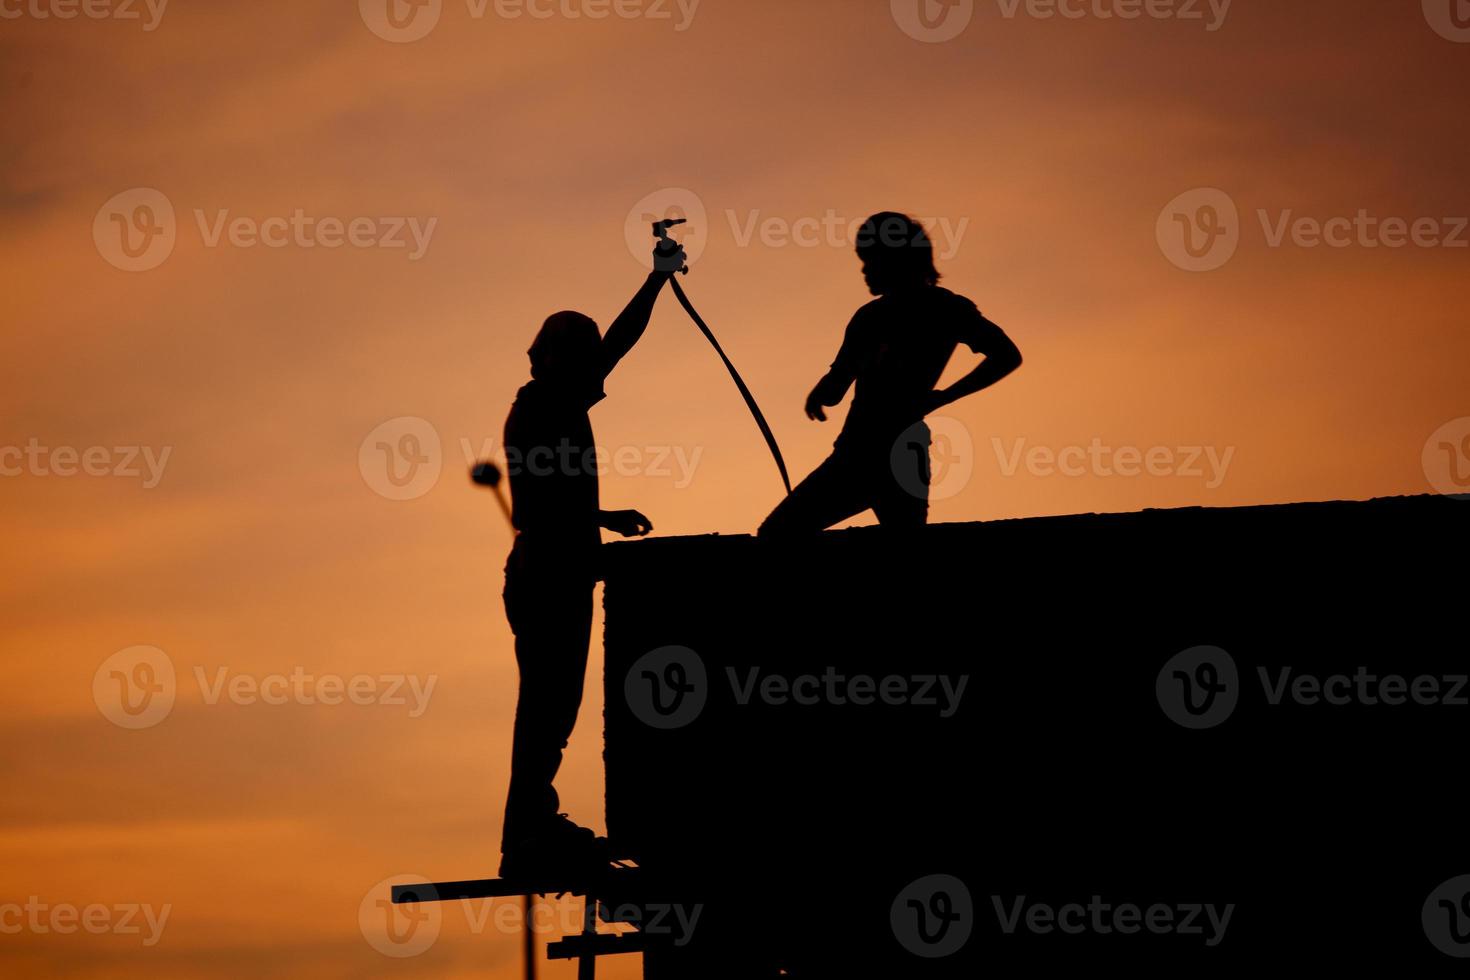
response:
[(600, 527), (625, 538), (653, 530), (635, 510), (600, 510), (588, 410), (603, 381), (648, 328), (654, 301), (684, 250), (654, 253), (654, 272), (603, 336), (581, 313), (556, 313), (531, 344), (531, 382), (506, 419), (516, 544), (506, 563), (506, 619), (516, 635), (516, 701), (501, 877), (585, 868), (606, 861), (606, 840), (559, 814), (551, 782), (576, 714), (592, 630)]

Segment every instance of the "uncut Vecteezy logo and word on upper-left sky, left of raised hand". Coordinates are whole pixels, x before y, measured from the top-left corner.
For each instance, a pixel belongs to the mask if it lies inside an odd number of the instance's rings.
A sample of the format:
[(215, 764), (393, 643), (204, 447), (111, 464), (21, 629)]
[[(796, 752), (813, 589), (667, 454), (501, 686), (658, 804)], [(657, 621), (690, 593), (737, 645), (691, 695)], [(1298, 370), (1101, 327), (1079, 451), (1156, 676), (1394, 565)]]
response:
[[(406, 248), (417, 262), (434, 238), (440, 219), (429, 217), (318, 217), (297, 207), (290, 215), (231, 216), (194, 209), (194, 223), (206, 248)], [(412, 241), (410, 241), (412, 239)], [(123, 272), (157, 269), (173, 254), (178, 220), (173, 204), (154, 188), (137, 187), (107, 200), (93, 219), (97, 253)]]

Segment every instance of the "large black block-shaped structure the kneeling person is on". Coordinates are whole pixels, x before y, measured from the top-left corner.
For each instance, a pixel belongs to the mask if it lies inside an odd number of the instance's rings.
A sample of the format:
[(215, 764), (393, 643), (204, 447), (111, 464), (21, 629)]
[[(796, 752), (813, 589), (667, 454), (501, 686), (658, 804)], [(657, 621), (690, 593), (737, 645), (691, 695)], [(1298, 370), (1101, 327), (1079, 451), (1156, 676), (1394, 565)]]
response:
[(701, 909), (645, 976), (1458, 971), (1421, 912), (1470, 873), (1467, 530), (1427, 497), (609, 545), (609, 837)]

